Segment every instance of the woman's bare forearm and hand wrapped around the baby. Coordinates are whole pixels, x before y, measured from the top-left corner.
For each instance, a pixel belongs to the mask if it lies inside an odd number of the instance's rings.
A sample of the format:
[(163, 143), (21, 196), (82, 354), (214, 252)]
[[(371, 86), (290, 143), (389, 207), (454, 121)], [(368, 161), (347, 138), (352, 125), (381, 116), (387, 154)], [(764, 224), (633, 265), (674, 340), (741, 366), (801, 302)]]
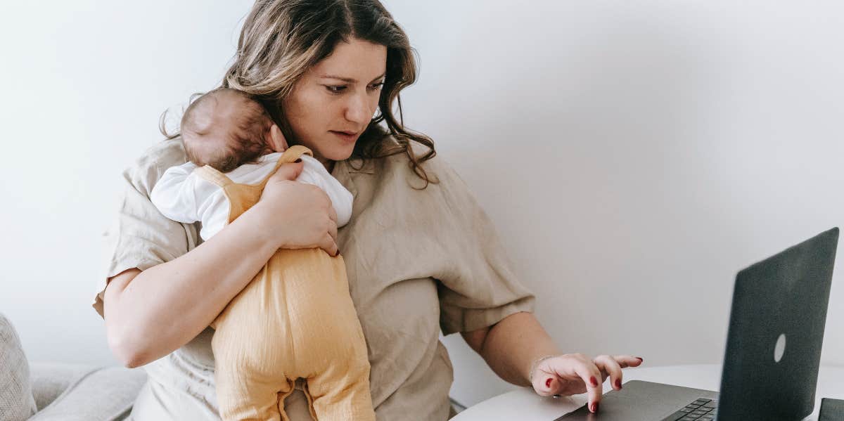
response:
[(282, 166), (257, 205), (187, 254), (111, 278), (106, 334), (123, 364), (138, 367), (188, 343), (279, 248), (318, 246), (337, 253), (336, 214), (319, 188), (289, 181), (300, 170)]

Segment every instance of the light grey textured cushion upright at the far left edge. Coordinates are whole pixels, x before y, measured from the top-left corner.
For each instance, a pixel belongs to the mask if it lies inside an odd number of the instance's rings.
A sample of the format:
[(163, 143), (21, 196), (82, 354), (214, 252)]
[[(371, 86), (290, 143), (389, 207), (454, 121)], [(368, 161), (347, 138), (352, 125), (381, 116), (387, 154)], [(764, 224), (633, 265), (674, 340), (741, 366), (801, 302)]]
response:
[(22, 421), (33, 413), (30, 365), (12, 322), (0, 314), (0, 421)]

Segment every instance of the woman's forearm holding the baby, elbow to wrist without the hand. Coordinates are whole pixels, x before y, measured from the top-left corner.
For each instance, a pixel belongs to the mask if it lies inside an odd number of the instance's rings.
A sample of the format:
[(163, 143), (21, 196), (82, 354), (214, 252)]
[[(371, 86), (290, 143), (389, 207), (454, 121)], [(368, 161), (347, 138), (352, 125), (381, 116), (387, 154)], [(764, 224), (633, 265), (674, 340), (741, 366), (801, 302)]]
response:
[(111, 278), (104, 316), (117, 358), (127, 367), (147, 364), (208, 327), (278, 249), (261, 222), (243, 213), (183, 256)]

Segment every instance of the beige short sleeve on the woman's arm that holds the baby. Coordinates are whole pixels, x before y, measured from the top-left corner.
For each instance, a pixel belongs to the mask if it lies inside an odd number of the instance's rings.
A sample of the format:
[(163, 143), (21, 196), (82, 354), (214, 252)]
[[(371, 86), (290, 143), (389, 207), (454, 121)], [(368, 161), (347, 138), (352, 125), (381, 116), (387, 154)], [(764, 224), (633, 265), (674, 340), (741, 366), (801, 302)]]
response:
[(187, 160), (181, 140), (168, 140), (149, 148), (124, 170), (117, 209), (104, 234), (105, 273), (97, 279), (94, 309), (103, 315), (106, 280), (127, 269), (149, 269), (170, 262), (197, 246), (195, 224), (167, 219), (149, 200), (155, 183), (168, 168)]

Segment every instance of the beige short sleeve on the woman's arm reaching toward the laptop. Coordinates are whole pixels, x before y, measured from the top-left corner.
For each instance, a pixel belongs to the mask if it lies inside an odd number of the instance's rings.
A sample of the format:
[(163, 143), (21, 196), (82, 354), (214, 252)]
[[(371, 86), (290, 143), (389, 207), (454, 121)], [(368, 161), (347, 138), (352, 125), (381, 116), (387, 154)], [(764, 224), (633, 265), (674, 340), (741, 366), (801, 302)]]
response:
[(437, 273), (440, 327), (444, 335), (490, 327), (511, 314), (533, 312), (535, 298), (519, 282), (489, 217), (463, 179), (441, 159), (431, 169), (442, 201), (430, 226), (451, 264)]

